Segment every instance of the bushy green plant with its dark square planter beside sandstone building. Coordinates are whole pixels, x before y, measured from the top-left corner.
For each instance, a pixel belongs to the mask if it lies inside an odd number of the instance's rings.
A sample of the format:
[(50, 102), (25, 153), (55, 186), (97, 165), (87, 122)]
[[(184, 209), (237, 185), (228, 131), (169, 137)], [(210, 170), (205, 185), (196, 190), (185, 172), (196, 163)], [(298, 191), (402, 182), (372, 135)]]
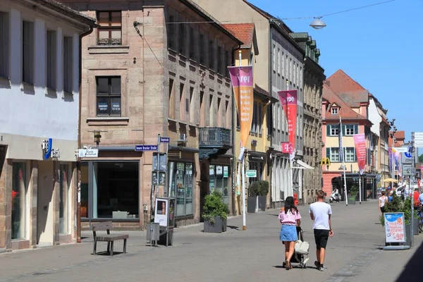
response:
[(212, 192), (204, 197), (202, 219), (204, 219), (204, 232), (221, 233), (226, 231), (228, 218), (228, 205), (223, 203), (221, 192)]

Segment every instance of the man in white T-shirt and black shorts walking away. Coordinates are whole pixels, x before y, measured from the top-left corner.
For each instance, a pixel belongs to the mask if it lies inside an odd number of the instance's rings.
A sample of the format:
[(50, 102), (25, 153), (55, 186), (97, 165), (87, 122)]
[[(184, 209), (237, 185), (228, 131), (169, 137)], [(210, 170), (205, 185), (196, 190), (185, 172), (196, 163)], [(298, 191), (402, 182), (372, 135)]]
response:
[(331, 214), (332, 209), (330, 204), (324, 202), (324, 192), (322, 190), (317, 191), (317, 202), (310, 204), (310, 218), (313, 223), (314, 229), (314, 240), (316, 241), (316, 255), (317, 261), (314, 265), (319, 271), (324, 271), (324, 256), (326, 250), (326, 244), (328, 238), (333, 237), (333, 231), (331, 226)]

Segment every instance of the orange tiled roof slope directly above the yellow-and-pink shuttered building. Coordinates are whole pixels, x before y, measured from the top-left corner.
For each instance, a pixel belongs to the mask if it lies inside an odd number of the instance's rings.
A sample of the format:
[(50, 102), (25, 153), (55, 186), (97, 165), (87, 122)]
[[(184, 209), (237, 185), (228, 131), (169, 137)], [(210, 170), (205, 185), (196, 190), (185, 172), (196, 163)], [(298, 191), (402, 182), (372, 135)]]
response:
[(337, 104), (340, 107), (336, 115), (331, 114), (331, 107), (328, 107), (324, 120), (339, 120), (340, 115), (343, 119), (366, 119), (364, 116), (357, 114), (357, 112), (351, 109), (351, 107), (326, 84), (323, 85), (323, 99), (329, 101), (329, 104)]

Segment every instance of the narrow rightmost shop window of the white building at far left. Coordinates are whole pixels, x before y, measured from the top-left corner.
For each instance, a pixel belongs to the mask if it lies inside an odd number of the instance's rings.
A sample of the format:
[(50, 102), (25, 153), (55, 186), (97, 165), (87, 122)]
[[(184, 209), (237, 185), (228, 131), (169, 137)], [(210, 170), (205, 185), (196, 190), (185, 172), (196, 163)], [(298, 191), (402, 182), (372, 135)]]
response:
[(69, 166), (67, 164), (60, 165), (60, 191), (59, 191), (59, 233), (69, 233), (69, 184), (71, 180), (69, 176)]

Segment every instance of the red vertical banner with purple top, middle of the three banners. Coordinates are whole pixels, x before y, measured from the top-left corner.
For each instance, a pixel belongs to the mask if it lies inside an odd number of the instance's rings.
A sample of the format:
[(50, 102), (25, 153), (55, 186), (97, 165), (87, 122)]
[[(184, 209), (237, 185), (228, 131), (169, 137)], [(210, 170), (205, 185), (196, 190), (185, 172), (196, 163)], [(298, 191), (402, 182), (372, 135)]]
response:
[(290, 143), (290, 160), (295, 157), (295, 130), (297, 128), (297, 90), (279, 91), (279, 101), (288, 121), (288, 141)]

